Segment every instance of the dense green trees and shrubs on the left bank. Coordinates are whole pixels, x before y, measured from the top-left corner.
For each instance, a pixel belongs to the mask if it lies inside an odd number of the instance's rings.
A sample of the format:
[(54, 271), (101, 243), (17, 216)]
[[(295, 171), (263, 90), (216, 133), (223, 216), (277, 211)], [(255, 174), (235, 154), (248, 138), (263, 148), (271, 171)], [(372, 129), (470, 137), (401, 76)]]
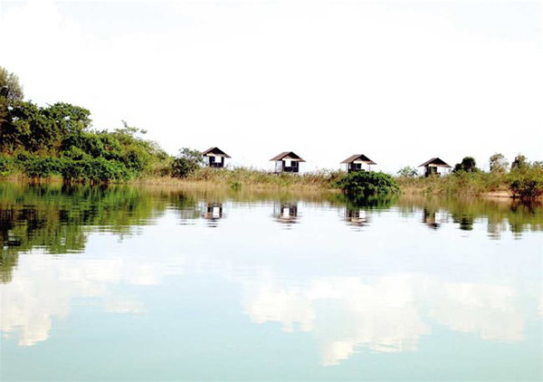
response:
[(69, 103), (23, 100), (13, 73), (0, 68), (0, 175), (62, 176), (66, 181), (129, 180), (169, 174), (172, 158), (144, 130), (91, 128), (90, 111)]

